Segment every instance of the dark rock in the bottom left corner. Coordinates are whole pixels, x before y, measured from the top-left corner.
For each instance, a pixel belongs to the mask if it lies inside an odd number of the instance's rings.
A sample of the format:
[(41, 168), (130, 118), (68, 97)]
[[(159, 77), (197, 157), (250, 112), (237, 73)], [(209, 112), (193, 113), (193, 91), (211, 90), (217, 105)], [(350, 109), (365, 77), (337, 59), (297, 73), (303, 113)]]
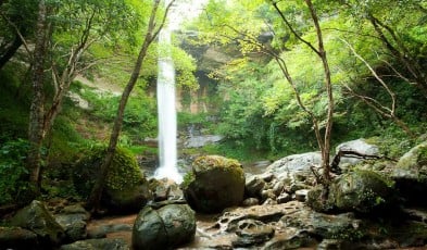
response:
[(0, 249), (37, 249), (37, 235), (21, 227), (0, 227)]

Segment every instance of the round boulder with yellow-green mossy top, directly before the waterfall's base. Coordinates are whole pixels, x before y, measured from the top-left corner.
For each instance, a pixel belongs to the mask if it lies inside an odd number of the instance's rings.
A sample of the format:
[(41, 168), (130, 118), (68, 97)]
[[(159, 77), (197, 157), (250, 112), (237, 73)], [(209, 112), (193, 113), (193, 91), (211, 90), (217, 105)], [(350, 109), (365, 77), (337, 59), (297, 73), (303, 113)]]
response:
[(244, 173), (234, 159), (219, 155), (200, 157), (184, 177), (184, 197), (199, 212), (215, 213), (238, 205), (243, 200)]

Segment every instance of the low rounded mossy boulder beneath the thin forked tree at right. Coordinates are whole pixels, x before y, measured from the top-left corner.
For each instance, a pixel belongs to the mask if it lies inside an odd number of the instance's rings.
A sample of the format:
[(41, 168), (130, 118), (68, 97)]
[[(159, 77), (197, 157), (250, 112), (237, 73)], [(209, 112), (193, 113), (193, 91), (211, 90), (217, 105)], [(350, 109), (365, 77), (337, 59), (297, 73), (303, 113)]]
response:
[(307, 203), (318, 212), (375, 213), (395, 201), (393, 182), (373, 171), (357, 170), (336, 178), (327, 191), (323, 187), (309, 192)]

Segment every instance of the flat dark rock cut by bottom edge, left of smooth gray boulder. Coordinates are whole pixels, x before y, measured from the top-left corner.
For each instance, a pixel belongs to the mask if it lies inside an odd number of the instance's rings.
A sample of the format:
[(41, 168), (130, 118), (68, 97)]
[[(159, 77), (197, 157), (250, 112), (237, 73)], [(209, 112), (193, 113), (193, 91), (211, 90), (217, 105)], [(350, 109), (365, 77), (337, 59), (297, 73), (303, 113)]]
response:
[(124, 239), (87, 239), (63, 245), (61, 250), (129, 250)]

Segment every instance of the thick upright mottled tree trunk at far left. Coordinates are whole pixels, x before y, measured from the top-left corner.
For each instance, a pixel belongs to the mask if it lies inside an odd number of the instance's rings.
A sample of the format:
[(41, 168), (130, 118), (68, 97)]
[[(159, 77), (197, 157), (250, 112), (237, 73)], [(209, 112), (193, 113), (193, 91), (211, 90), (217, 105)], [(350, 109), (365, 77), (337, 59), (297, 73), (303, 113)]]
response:
[(29, 171), (29, 182), (35, 187), (35, 191), (39, 192), (40, 178), (40, 149), (43, 140), (43, 111), (45, 111), (45, 59), (46, 59), (46, 4), (45, 0), (40, 0), (38, 4), (38, 20), (36, 26), (36, 45), (34, 50), (33, 66), (33, 98), (29, 110), (28, 141), (30, 145), (27, 157), (27, 168)]

